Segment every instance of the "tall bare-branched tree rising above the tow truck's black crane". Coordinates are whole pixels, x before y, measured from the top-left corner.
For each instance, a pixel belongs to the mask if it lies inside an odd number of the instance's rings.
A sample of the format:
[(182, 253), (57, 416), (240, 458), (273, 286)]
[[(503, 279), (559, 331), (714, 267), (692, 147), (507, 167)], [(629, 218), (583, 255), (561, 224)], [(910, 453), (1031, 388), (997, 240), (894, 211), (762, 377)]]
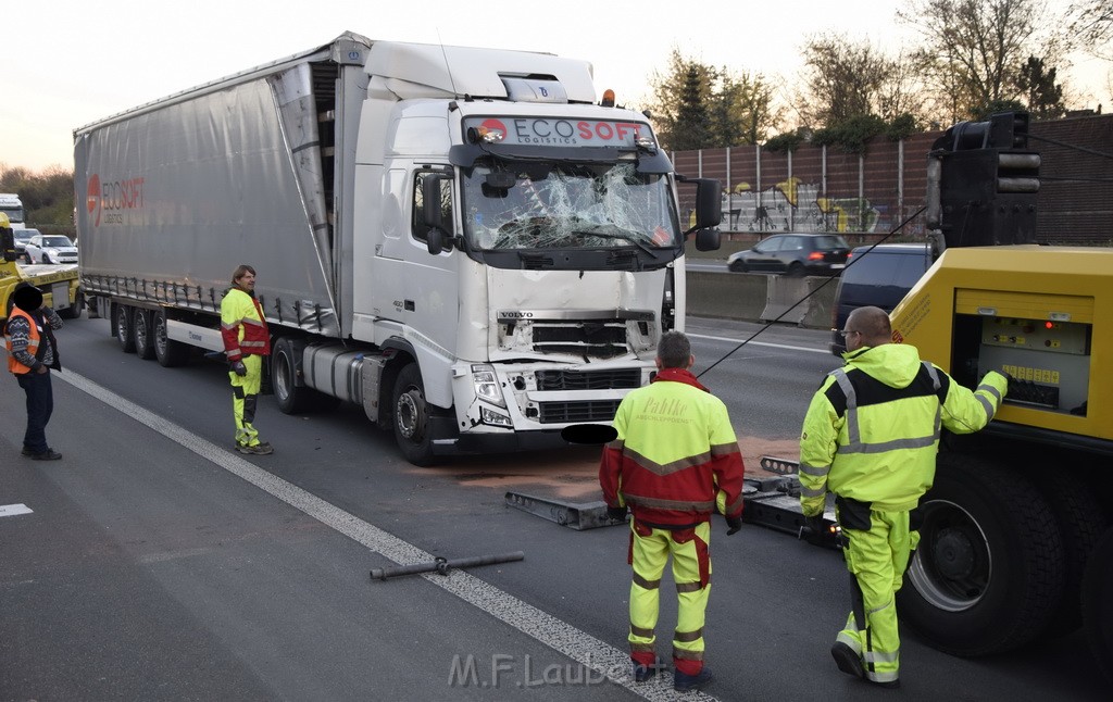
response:
[(918, 58), (947, 121), (1020, 97), (1018, 75), (1030, 56), (1063, 60), (1044, 0), (907, 0), (899, 20), (925, 43)]

